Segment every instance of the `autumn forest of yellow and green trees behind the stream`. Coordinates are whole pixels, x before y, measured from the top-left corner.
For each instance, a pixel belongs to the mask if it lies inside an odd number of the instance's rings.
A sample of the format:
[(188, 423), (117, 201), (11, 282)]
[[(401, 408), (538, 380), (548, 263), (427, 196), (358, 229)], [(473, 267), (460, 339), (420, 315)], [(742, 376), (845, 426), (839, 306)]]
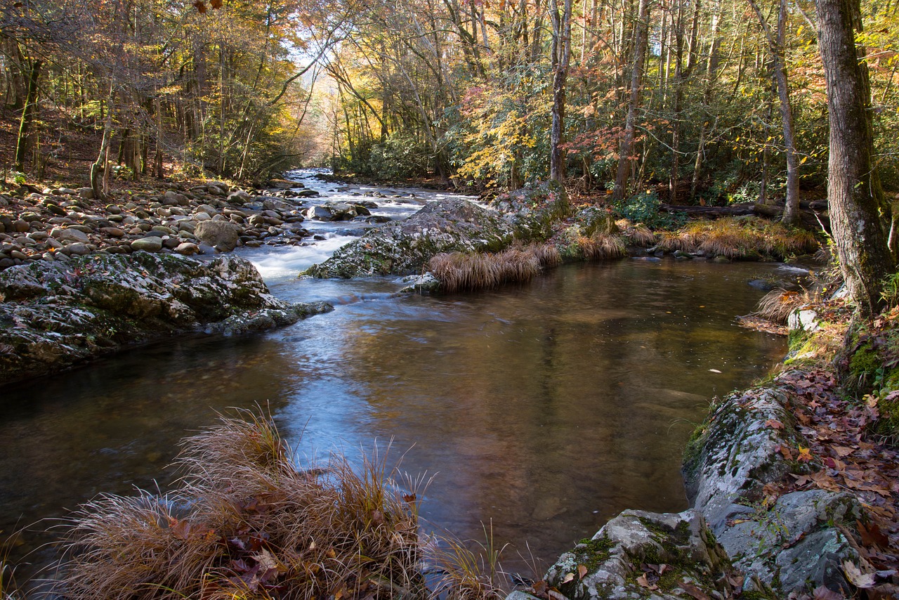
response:
[[(860, 8), (894, 190), (896, 6)], [(809, 0), (28, 0), (0, 18), (5, 167), (39, 179), (48, 161), (93, 163), (95, 187), (170, 162), (244, 180), (323, 165), (720, 204), (827, 175)]]

